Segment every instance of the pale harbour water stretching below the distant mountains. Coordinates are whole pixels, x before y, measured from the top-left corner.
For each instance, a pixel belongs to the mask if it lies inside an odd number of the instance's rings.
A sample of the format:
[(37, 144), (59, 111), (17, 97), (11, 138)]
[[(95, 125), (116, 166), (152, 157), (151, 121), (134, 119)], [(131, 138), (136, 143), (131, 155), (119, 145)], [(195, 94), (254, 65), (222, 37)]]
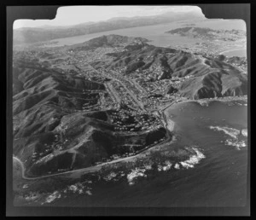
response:
[(92, 34), (80, 35), (71, 38), (59, 38), (49, 42), (57, 42), (50, 46), (63, 46), (72, 45), (75, 43), (83, 43), (92, 38), (98, 38), (102, 35), (119, 34), (128, 37), (141, 37), (150, 40), (150, 44), (160, 47), (168, 47), (172, 45), (187, 45), (195, 44), (199, 42), (194, 38), (185, 38), (181, 36), (172, 36), (166, 32), (171, 31), (179, 27), (184, 27), (189, 24), (195, 24), (199, 27), (209, 27), (212, 29), (239, 29), (246, 31), (246, 24), (243, 20), (185, 20), (182, 22), (172, 22), (167, 24), (155, 25), (155, 26), (138, 26), (119, 30), (113, 30), (109, 32), (97, 32)]

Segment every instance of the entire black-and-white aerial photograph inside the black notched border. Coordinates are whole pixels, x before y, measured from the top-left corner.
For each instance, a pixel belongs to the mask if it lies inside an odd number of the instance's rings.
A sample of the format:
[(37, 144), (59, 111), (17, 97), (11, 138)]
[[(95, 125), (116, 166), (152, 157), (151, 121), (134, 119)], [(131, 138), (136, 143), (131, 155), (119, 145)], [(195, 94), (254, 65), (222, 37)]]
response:
[(171, 4), (15, 20), (12, 205), (248, 206), (248, 28)]

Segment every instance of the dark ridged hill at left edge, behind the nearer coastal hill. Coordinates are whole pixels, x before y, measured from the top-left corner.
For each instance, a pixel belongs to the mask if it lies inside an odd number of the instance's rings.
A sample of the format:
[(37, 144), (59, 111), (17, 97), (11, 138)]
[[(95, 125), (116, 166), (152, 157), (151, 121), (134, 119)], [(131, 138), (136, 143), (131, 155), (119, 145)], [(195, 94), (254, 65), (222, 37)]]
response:
[[(70, 77), (57, 72), (41, 72), (32, 69), (16, 69), (22, 87), (14, 96), (13, 112), (20, 113), (46, 101), (58, 103), (69, 110), (81, 109), (86, 102), (96, 103), (96, 97), (83, 94), (82, 90), (104, 90), (103, 84), (90, 82), (84, 78)], [(22, 90), (23, 89), (23, 90)]]

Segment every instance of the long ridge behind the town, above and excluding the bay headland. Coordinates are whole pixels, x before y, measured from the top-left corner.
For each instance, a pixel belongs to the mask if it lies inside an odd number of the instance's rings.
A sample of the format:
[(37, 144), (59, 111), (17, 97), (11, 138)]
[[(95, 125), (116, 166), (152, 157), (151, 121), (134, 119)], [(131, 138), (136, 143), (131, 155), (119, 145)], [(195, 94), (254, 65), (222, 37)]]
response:
[(203, 58), (201, 55), (193, 55), (176, 49), (154, 47), (147, 43), (133, 44), (123, 52), (108, 54), (113, 61), (93, 63), (98, 67), (126, 67), (126, 73), (136, 70), (153, 70), (160, 67), (162, 72), (168, 72), (169, 76), (185, 77), (187, 75), (201, 76), (212, 72), (212, 68), (229, 68), (237, 72), (236, 67), (213, 60)]

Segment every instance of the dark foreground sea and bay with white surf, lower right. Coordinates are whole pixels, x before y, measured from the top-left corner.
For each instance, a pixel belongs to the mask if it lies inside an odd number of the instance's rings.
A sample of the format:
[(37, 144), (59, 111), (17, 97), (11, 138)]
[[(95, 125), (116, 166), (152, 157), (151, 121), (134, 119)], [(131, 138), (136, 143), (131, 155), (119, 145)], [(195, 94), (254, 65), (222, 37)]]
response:
[(55, 200), (51, 202), (52, 195), (48, 198), (50, 206), (245, 206), (247, 144), (237, 144), (236, 137), (242, 130), (244, 140), (247, 138), (247, 107), (216, 101), (202, 107), (185, 102), (167, 111), (178, 137), (168, 148), (187, 146), (195, 151), (189, 159), (179, 165), (166, 160), (151, 175), (147, 174), (150, 165), (133, 169), (127, 177), (121, 172), (122, 178), (112, 171), (105, 177), (108, 181), (93, 182), (84, 192), (79, 186), (69, 187), (75, 188), (74, 194), (54, 192)]

